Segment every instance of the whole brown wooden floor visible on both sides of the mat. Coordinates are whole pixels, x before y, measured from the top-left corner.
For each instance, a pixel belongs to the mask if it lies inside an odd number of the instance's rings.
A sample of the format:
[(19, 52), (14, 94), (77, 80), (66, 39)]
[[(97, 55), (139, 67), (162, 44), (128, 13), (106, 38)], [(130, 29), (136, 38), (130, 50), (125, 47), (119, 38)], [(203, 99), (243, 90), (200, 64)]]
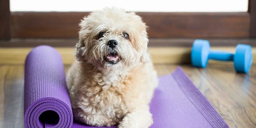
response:
[[(206, 69), (180, 65), (230, 128), (256, 127), (256, 64), (250, 73), (235, 73), (232, 63), (210, 63)], [(23, 64), (0, 65), (0, 128), (23, 128)], [(65, 65), (65, 70), (70, 65)], [(159, 76), (178, 65), (157, 64)]]

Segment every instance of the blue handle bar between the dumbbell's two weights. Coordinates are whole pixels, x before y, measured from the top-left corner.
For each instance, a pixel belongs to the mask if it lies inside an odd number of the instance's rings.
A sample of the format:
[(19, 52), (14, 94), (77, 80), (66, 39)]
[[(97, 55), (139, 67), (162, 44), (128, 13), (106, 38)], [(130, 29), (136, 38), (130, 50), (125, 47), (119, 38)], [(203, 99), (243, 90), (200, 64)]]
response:
[(233, 61), (234, 54), (223, 51), (210, 51), (208, 59), (219, 60), (219, 61)]

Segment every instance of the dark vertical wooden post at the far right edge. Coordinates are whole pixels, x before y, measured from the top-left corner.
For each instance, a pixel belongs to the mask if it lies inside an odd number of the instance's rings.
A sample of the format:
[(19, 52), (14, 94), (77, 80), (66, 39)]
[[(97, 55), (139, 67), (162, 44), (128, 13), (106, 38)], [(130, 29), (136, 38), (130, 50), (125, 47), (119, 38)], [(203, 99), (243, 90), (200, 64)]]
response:
[(249, 0), (248, 12), (250, 13), (250, 37), (256, 38), (256, 1)]

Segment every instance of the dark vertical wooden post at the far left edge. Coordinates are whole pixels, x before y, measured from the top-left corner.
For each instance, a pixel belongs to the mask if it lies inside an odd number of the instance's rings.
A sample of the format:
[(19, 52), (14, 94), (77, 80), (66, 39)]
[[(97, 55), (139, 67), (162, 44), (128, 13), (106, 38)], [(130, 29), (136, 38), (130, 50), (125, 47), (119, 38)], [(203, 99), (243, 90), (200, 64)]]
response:
[(0, 40), (9, 40), (10, 37), (9, 0), (0, 0)]

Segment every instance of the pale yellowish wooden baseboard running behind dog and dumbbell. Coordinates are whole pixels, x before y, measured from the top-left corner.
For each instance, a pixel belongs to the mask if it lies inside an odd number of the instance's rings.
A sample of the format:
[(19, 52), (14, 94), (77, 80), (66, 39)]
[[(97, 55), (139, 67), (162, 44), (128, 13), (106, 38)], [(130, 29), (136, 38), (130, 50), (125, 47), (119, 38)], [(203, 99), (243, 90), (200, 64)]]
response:
[[(55, 47), (61, 54), (64, 64), (74, 61), (74, 47)], [(26, 55), (32, 47), (0, 48), (0, 64), (24, 64)], [(235, 52), (235, 47), (212, 47), (227, 52)], [(149, 47), (148, 51), (154, 64), (190, 63), (191, 47)], [(253, 62), (256, 62), (256, 47), (253, 47)], [(214, 63), (218, 61), (209, 61)]]

